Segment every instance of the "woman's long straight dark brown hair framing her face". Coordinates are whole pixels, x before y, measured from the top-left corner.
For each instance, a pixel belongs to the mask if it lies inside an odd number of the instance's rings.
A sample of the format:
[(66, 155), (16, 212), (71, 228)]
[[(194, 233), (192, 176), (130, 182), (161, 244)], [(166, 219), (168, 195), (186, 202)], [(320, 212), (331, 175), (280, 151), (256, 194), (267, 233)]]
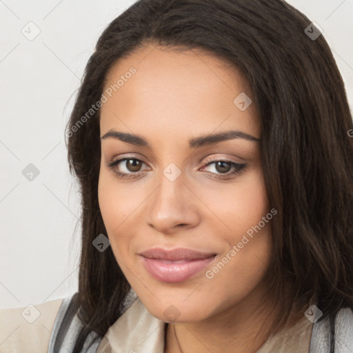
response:
[(331, 325), (342, 307), (353, 310), (352, 116), (323, 35), (312, 40), (305, 34), (310, 23), (282, 0), (140, 0), (101, 34), (67, 126), (70, 172), (79, 181), (82, 208), (83, 329), (75, 353), (91, 331), (102, 337), (117, 321), (130, 285), (111, 247), (99, 252), (92, 245), (107, 234), (97, 195), (100, 111), (73, 127), (101, 99), (112, 65), (145, 43), (202, 49), (239, 68), (252, 87), (265, 185), (278, 211), (268, 270), (269, 292), (278, 299), (274, 327), (294, 303), (315, 303), (320, 320), (328, 316)]

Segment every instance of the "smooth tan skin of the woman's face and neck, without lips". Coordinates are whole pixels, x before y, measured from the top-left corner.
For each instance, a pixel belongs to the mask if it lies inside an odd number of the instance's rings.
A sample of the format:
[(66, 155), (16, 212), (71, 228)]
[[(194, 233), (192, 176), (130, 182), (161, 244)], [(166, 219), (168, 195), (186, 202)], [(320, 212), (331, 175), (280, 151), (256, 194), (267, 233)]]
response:
[[(256, 352), (271, 323), (265, 321), (270, 305), (259, 306), (271, 258), (271, 222), (212, 279), (205, 271), (270, 212), (260, 144), (236, 138), (189, 146), (192, 138), (228, 130), (261, 139), (250, 85), (239, 70), (202, 50), (145, 45), (113, 65), (104, 89), (132, 67), (136, 72), (108, 97), (100, 117), (101, 137), (115, 130), (137, 134), (150, 145), (101, 139), (99, 206), (114, 256), (152, 315), (168, 322), (165, 310), (174, 305), (179, 311), (168, 324), (165, 353)], [(241, 92), (252, 99), (244, 111), (233, 103)], [(108, 166), (124, 157), (141, 162)], [(210, 157), (228, 163), (220, 168), (216, 161), (209, 164)], [(231, 174), (236, 168), (229, 162), (245, 168)], [(163, 174), (170, 163), (181, 172), (175, 181)], [(116, 171), (132, 178), (121, 179)], [(157, 246), (217, 256), (191, 279), (165, 283), (145, 270), (139, 256)]]

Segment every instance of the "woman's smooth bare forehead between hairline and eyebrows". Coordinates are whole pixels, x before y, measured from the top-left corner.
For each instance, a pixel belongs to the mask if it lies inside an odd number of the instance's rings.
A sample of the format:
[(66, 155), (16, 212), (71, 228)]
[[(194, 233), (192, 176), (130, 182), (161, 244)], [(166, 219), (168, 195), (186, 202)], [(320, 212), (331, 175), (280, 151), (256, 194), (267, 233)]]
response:
[[(139, 48), (112, 66), (103, 94), (108, 100), (101, 108), (101, 134), (124, 128), (191, 137), (237, 128), (260, 137), (248, 81), (236, 67), (202, 50)], [(234, 103), (242, 94), (252, 99), (243, 111), (239, 99)]]

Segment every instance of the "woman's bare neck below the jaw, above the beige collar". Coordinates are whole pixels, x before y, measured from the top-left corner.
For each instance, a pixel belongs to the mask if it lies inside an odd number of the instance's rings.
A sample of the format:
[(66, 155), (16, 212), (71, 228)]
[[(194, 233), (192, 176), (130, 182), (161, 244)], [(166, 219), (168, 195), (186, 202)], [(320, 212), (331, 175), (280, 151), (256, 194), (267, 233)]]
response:
[(202, 321), (170, 323), (164, 353), (255, 353), (275, 333), (271, 327), (276, 313), (274, 305), (247, 299)]

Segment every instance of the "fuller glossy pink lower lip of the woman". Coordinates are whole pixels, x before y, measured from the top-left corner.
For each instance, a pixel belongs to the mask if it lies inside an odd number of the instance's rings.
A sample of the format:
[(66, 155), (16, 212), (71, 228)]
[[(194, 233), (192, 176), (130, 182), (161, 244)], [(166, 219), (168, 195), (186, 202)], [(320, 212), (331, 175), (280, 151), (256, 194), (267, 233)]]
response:
[(150, 272), (154, 279), (161, 282), (177, 283), (190, 279), (194, 274), (200, 272), (214, 260), (215, 256), (207, 259), (195, 259), (192, 261), (166, 261), (159, 259), (148, 259), (142, 256), (145, 269)]

